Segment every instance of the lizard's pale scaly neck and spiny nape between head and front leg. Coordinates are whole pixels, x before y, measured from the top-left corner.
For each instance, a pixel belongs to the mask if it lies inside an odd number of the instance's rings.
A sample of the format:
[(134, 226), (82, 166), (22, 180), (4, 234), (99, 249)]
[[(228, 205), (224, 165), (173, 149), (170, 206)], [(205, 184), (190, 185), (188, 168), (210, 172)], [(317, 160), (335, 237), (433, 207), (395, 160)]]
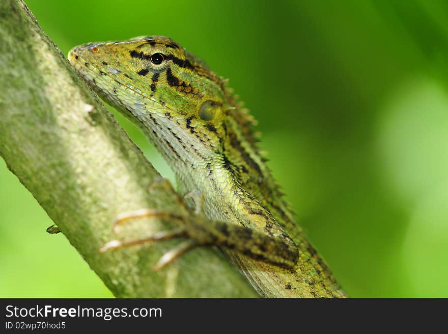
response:
[(208, 218), (239, 222), (269, 235), (283, 234), (284, 226), (300, 232), (260, 155), (251, 130), (255, 121), (231, 94), (227, 98), (233, 108), (219, 130), (197, 129), (191, 117), (174, 117), (145, 104), (130, 105), (127, 111), (174, 170), (180, 192), (201, 191)]

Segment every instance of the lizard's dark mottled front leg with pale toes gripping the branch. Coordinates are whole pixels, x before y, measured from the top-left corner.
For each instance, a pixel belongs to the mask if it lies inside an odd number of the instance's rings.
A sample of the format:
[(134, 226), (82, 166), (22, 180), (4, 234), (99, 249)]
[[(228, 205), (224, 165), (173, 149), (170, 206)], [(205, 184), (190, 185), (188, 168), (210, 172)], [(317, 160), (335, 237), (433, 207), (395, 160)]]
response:
[(216, 245), (248, 256), (251, 259), (274, 264), (279, 267), (292, 268), (298, 259), (298, 248), (294, 243), (270, 237), (253, 229), (221, 222), (211, 221), (201, 215), (184, 217), (173, 213), (154, 210), (138, 210), (118, 217), (114, 224), (114, 233), (118, 234), (119, 226), (132, 219), (152, 217), (167, 222), (176, 222), (178, 227), (162, 230), (149, 237), (130, 241), (112, 240), (102, 246), (99, 251), (117, 249), (132, 245), (144, 244), (173, 238), (184, 238), (176, 248), (165, 253), (154, 266), (158, 270), (173, 262), (186, 251), (206, 245)]

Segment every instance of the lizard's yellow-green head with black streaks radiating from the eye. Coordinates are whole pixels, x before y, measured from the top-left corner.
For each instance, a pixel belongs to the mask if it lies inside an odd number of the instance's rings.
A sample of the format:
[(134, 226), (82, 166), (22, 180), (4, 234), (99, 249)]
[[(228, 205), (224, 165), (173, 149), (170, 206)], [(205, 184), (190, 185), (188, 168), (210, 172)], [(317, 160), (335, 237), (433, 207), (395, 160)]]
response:
[(214, 150), (222, 142), (231, 108), (226, 82), (175, 41), (150, 36), (89, 43), (74, 47), (68, 58), (108, 104), (143, 129), (175, 128), (190, 145), (208, 143)]

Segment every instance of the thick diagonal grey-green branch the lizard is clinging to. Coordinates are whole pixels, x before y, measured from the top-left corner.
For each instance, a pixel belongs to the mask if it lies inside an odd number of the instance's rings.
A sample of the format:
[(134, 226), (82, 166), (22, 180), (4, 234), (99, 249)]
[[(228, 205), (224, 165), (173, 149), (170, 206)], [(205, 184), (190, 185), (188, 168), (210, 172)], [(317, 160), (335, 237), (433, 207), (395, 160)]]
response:
[[(116, 238), (120, 213), (189, 213), (169, 184), (152, 186), (157, 171), (19, 0), (0, 3), (0, 72), (0, 155), (115, 296), (257, 296), (215, 248), (158, 272), (152, 266), (178, 241), (98, 252)], [(139, 226), (145, 234), (160, 228)]]

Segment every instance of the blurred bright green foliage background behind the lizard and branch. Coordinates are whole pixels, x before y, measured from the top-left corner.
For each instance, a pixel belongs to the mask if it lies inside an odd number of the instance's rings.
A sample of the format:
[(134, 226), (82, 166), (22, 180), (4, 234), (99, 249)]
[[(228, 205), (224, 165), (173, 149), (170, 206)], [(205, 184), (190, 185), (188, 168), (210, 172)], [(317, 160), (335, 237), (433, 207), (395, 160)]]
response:
[[(158, 34), (202, 57), (259, 120), (274, 176), (350, 296), (448, 297), (446, 1), (26, 3), (64, 54)], [(0, 297), (111, 297), (49, 225), (0, 160)]]

